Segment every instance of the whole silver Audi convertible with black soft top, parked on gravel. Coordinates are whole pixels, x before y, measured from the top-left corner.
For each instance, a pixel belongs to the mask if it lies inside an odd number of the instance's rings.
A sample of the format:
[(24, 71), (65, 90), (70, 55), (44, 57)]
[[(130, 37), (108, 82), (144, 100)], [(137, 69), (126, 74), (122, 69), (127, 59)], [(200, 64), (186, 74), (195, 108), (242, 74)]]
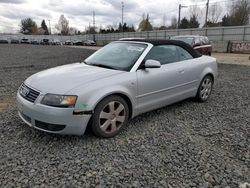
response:
[(216, 77), (216, 59), (184, 42), (116, 41), (83, 62), (30, 76), (17, 92), (18, 114), (41, 131), (82, 135), (90, 126), (108, 138), (144, 112), (207, 101)]

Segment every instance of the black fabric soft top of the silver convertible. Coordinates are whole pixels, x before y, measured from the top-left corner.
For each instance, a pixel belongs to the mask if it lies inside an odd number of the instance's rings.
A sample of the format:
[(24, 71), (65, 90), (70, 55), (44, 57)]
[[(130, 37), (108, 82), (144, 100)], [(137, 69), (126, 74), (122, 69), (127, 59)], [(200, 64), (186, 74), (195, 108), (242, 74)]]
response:
[(150, 44), (153, 44), (154, 46), (159, 46), (159, 45), (176, 45), (184, 48), (187, 50), (194, 58), (201, 57), (202, 55), (194, 50), (189, 44), (183, 42), (183, 41), (178, 41), (178, 40), (150, 40), (150, 39), (128, 39), (124, 41), (134, 41), (134, 42), (147, 42)]

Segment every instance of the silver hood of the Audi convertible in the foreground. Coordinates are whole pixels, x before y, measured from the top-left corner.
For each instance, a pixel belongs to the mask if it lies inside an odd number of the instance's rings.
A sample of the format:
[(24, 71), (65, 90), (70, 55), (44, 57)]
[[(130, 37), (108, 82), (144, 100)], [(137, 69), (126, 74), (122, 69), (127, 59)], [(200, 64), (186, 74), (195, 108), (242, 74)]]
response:
[(75, 63), (59, 66), (30, 76), (25, 84), (42, 93), (65, 94), (71, 89), (122, 71)]

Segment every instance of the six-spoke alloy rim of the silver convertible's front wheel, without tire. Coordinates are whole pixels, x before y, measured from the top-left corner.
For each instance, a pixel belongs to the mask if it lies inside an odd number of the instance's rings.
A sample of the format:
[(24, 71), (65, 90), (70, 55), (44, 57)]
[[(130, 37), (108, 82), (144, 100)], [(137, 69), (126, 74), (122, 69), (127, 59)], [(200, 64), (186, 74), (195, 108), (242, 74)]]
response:
[(113, 133), (121, 128), (125, 121), (125, 107), (118, 101), (108, 103), (100, 113), (99, 124), (105, 133)]

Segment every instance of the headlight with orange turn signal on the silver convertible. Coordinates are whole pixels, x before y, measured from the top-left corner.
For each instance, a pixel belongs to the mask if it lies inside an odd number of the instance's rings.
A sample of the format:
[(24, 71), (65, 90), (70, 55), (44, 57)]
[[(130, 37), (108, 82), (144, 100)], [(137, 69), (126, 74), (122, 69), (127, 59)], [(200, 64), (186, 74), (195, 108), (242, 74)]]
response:
[(76, 100), (77, 96), (74, 95), (46, 94), (41, 103), (48, 106), (68, 108), (74, 107)]

